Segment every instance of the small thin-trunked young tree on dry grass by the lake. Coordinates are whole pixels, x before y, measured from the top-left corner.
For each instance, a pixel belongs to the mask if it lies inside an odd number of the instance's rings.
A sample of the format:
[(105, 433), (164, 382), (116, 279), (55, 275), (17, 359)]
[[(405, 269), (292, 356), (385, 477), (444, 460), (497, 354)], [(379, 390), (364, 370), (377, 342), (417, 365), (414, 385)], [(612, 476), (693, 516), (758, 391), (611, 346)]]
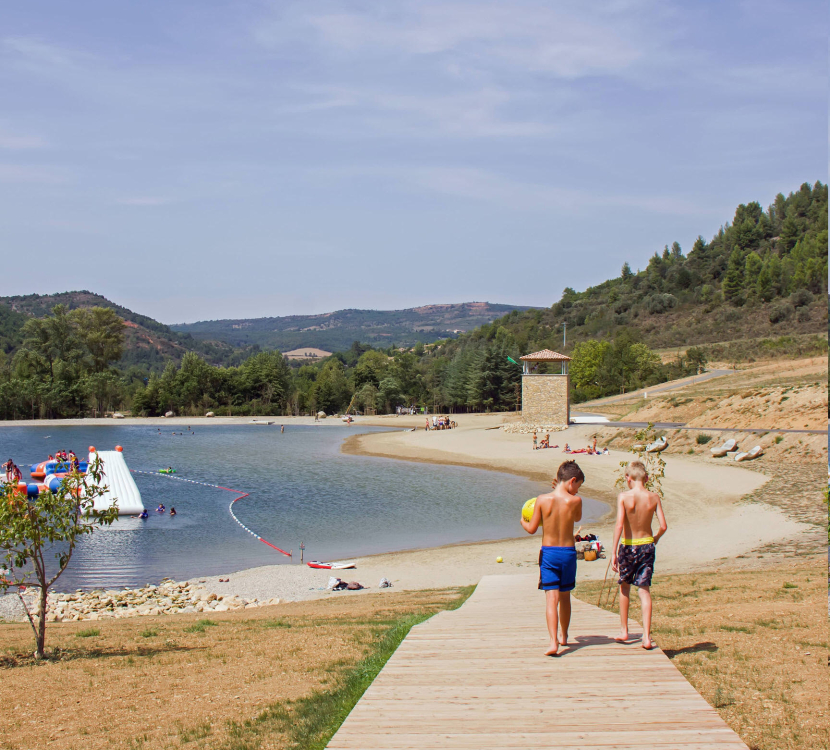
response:
[[(13, 483), (0, 491), (0, 560), (6, 572), (0, 590), (23, 587), (38, 592), (35, 612), (26, 615), (35, 636), (35, 655), (46, 654), (46, 601), (49, 588), (60, 578), (72, 559), (78, 539), (108, 526), (118, 518), (117, 501), (106, 510), (95, 510), (95, 500), (106, 493), (100, 460), (86, 475), (68, 474), (57, 490), (40, 492), (35, 498), (21, 497)], [(55, 563), (48, 562), (54, 559)]]

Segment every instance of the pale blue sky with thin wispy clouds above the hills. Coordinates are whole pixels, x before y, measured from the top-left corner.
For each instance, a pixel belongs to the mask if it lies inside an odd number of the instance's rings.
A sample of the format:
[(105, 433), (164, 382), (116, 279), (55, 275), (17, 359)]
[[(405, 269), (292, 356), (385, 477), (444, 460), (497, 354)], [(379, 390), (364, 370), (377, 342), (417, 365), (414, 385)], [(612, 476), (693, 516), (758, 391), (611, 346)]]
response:
[(824, 2), (0, 6), (0, 294), (550, 305), (827, 175)]

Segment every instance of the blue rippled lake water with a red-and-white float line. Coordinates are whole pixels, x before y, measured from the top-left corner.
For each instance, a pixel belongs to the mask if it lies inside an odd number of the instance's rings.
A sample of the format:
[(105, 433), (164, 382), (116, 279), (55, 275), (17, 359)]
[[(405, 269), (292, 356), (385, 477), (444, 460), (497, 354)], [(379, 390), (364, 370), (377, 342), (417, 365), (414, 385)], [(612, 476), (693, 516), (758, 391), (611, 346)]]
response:
[[(184, 431), (178, 427), (176, 431)], [(257, 534), (306, 560), (520, 536), (522, 503), (549, 485), (511, 474), (340, 453), (348, 434), (366, 428), (253, 425), (198, 426), (173, 435), (156, 427), (8, 427), (0, 457), (26, 468), (60, 448), (84, 457), (124, 447), (131, 469), (157, 472), (249, 492), (234, 506)], [(137, 586), (168, 576), (180, 580), (258, 565), (292, 564), (237, 525), (234, 495), (163, 475), (135, 474), (150, 518), (121, 518), (81, 540), (59, 590)], [(152, 512), (159, 503), (178, 515)], [(586, 500), (585, 518), (606, 507)]]

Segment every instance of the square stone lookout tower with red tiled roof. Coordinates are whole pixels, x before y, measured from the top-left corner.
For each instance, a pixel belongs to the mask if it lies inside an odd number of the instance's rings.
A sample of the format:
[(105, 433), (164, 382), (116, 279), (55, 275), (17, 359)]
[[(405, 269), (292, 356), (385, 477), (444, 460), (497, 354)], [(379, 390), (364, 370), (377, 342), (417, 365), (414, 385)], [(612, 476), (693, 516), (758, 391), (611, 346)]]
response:
[[(522, 422), (538, 429), (564, 429), (571, 418), (570, 378), (566, 357), (550, 349), (526, 354), (522, 360)], [(542, 375), (532, 372), (540, 362), (559, 362), (559, 373)]]

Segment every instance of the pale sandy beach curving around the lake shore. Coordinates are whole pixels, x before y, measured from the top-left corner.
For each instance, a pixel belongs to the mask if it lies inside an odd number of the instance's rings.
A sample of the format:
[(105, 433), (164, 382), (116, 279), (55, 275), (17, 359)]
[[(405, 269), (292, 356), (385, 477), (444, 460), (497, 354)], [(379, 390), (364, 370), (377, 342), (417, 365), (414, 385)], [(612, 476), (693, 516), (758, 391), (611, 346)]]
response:
[[(189, 425), (194, 429), (211, 425), (249, 424), (251, 417), (236, 418), (159, 418), (124, 419), (117, 424)], [(506, 419), (500, 414), (460, 415), (459, 427), (454, 430), (430, 431), (423, 429), (424, 417), (359, 418), (358, 426), (388, 427), (390, 431), (349, 435), (349, 428), (341, 420), (328, 418), (316, 423), (339, 427), (343, 432), (341, 450), (355, 455), (371, 455), (394, 460), (419, 461), (436, 464), (470, 466), (493, 471), (509, 472), (536, 481), (547, 482), (555, 474), (567, 455), (561, 448), (533, 451), (527, 435), (506, 434), (499, 429)], [(310, 417), (275, 418), (276, 425), (315, 424)], [(65, 420), (51, 423), (58, 427), (67, 424), (112, 425), (112, 419)], [(14, 425), (28, 423), (15, 422)], [(45, 422), (33, 422), (43, 426)], [(5, 424), (3, 426), (6, 426)], [(276, 427), (275, 427), (276, 428)], [(416, 428), (414, 431), (412, 428)], [(252, 429), (254, 427), (252, 426)], [(256, 429), (263, 429), (257, 427)], [(597, 431), (596, 426), (572, 426), (553, 433), (551, 443), (572, 447), (587, 445)], [(577, 455), (586, 474), (582, 494), (608, 505), (608, 513), (597, 523), (586, 525), (583, 533), (593, 532), (610, 545), (613, 536), (613, 513), (616, 497), (614, 482), (619, 464), (630, 458), (629, 453), (612, 450), (608, 455)], [(811, 530), (781, 509), (759, 502), (741, 502), (741, 498), (762, 487), (768, 477), (749, 468), (729, 465), (725, 460), (702, 457), (664, 455), (666, 476), (663, 481), (664, 507), (669, 521), (669, 532), (658, 550), (659, 573), (686, 573), (711, 570), (726, 561), (735, 560), (751, 550), (782, 540), (797, 538)], [(339, 575), (356, 580), (369, 590), (376, 590), (381, 578), (388, 578), (393, 588), (428, 589), (468, 585), (488, 574), (527, 573), (536, 565), (539, 533), (536, 537), (524, 535), (516, 509), (516, 538), (457, 544), (431, 549), (417, 549), (373, 555), (355, 559), (356, 569)], [(502, 557), (504, 562), (497, 563)], [(299, 563), (299, 560), (296, 560)], [(604, 577), (607, 561), (581, 562), (578, 580)], [(326, 590), (330, 577), (327, 571), (312, 570), (305, 565), (272, 565), (223, 576), (192, 579), (204, 581), (212, 591), (237, 594), (241, 597), (266, 599), (279, 597), (283, 601), (298, 601), (321, 596), (352, 596), (351, 592), (331, 593)], [(229, 577), (229, 582), (219, 582)]]

